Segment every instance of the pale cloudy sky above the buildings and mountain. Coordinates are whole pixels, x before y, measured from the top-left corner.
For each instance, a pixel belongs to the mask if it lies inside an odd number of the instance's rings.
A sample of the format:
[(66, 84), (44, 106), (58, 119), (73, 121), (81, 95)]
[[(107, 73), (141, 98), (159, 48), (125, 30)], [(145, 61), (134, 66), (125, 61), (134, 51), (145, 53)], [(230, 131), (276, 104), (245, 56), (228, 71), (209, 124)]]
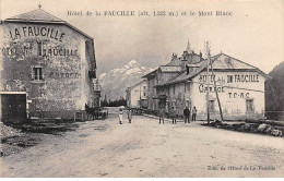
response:
[[(191, 49), (204, 55), (224, 52), (269, 73), (284, 61), (284, 1), (226, 0), (0, 0), (0, 20), (38, 8), (94, 37), (98, 74), (121, 68), (130, 60), (156, 68)], [(100, 16), (70, 16), (68, 11), (100, 12)], [(134, 16), (105, 16), (104, 11), (134, 11)], [(147, 11), (150, 16), (138, 16)], [(153, 12), (178, 16), (153, 16)], [(189, 12), (196, 12), (190, 16)], [(199, 16), (199, 12), (213, 16)], [(215, 11), (232, 16), (215, 16)], [(187, 12), (181, 16), (181, 12)]]

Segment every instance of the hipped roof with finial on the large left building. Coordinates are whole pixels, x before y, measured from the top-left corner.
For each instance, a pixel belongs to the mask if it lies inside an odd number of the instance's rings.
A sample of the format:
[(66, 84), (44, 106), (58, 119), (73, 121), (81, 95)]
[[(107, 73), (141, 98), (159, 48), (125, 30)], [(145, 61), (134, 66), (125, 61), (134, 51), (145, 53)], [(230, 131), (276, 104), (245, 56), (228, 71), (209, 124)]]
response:
[(27, 23), (45, 23), (45, 24), (63, 24), (69, 26), (70, 28), (74, 29), (75, 32), (80, 33), (81, 35), (93, 39), (93, 37), (88, 36), (87, 34), (83, 33), (82, 31), (78, 29), (73, 25), (69, 24), (68, 22), (49, 14), (48, 12), (39, 9), (19, 14), (9, 19), (5, 19), (4, 22), (27, 22)]

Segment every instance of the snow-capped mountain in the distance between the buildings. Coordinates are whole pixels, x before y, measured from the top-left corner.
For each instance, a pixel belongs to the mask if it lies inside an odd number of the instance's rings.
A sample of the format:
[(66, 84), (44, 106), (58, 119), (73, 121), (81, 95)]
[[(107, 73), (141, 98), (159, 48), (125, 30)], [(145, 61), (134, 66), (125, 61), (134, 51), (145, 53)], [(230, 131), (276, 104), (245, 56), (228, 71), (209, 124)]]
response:
[(140, 81), (141, 76), (153, 71), (151, 68), (141, 67), (135, 60), (131, 60), (123, 68), (114, 69), (108, 73), (99, 75), (102, 85), (102, 98), (107, 95), (107, 99), (118, 99), (126, 97), (127, 87), (133, 86)]

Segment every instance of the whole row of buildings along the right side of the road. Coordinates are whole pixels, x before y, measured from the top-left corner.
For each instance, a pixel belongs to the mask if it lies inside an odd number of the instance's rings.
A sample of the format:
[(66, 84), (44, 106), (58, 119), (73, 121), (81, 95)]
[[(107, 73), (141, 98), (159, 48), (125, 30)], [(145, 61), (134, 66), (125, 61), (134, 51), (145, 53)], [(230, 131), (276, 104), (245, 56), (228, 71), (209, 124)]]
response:
[[(180, 57), (174, 53), (167, 64), (159, 65), (144, 75), (141, 83), (128, 88), (127, 98), (128, 102), (131, 102), (128, 106), (144, 107), (151, 110), (158, 110), (163, 107), (166, 111), (170, 111), (174, 107), (179, 116), (182, 116), (185, 107), (190, 109), (196, 107), (201, 120), (206, 119), (209, 107), (211, 118), (220, 119), (215, 93), (217, 92), (225, 120), (264, 117), (264, 82), (269, 79), (265, 73), (223, 52), (212, 57), (214, 74), (209, 68), (209, 76), (206, 74), (208, 64), (208, 60), (202, 57), (202, 53), (191, 50), (188, 43), (187, 49)], [(146, 93), (143, 97), (139, 93), (141, 89), (137, 88), (142, 84), (146, 85)], [(139, 96), (134, 96), (134, 94)], [(143, 106), (139, 104), (141, 100)]]

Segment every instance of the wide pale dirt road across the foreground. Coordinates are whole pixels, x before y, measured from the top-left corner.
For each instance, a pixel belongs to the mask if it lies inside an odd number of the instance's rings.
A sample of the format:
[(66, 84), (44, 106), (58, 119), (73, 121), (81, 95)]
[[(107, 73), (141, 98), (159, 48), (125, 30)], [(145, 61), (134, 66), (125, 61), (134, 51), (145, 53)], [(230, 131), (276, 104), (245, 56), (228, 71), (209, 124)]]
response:
[(135, 116), (131, 124), (120, 125), (110, 114), (104, 121), (82, 122), (64, 135), (42, 138), (34, 147), (0, 158), (0, 176), (284, 177), (282, 137), (197, 122), (158, 124)]

